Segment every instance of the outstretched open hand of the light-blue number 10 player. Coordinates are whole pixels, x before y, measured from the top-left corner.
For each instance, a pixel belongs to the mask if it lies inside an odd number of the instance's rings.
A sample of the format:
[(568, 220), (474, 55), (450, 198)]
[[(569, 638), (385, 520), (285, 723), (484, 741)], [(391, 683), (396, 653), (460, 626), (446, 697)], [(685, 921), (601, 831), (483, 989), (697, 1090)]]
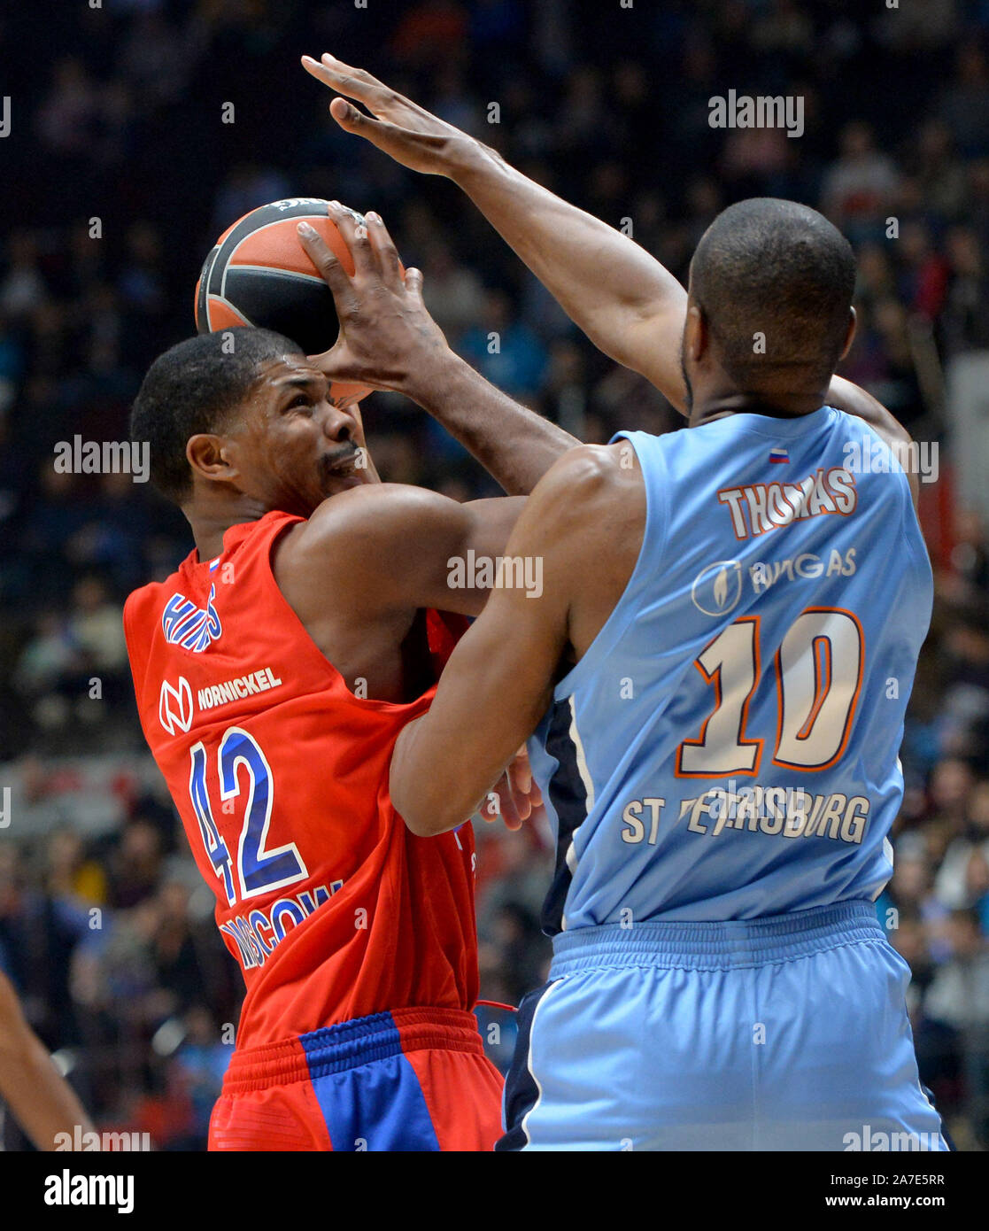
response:
[[(321, 60), (304, 55), (303, 68), (343, 95), (330, 103), (330, 114), (341, 128), (367, 138), (402, 166), (427, 175), (450, 175), (471, 149), (480, 146), (475, 138), (390, 90), (370, 73), (351, 68), (328, 53)], [(370, 114), (348, 98), (363, 103)]]

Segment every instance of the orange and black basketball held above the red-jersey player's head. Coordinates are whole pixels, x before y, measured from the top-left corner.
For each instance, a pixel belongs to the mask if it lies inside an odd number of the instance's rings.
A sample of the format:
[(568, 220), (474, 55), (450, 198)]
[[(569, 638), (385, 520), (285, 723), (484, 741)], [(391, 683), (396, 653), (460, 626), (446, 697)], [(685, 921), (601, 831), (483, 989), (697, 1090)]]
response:
[[(349, 213), (363, 223), (363, 214)], [(296, 342), (306, 355), (328, 351), (337, 340), (337, 313), (330, 287), (316, 272), (296, 231), (308, 222), (354, 272), (343, 236), (317, 197), (273, 201), (239, 218), (210, 250), (196, 283), (196, 327), (215, 334), (239, 325), (271, 329)], [(363, 385), (335, 382), (336, 396), (368, 393)]]

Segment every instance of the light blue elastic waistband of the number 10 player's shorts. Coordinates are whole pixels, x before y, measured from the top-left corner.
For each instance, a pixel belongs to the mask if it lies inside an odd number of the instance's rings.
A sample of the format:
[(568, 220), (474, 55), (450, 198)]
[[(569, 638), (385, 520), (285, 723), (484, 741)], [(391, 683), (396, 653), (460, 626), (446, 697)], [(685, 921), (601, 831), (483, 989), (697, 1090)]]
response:
[(839, 902), (812, 911), (717, 923), (606, 923), (554, 937), (550, 979), (581, 970), (662, 966), (729, 970), (806, 958), (824, 949), (883, 942), (871, 902)]

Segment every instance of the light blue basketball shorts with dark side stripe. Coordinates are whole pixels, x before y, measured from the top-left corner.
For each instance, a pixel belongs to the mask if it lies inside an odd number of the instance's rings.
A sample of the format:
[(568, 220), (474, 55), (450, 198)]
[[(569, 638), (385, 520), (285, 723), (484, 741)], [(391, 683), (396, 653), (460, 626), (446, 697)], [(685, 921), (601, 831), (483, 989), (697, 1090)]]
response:
[(496, 1150), (947, 1150), (870, 902), (581, 928), (519, 1008)]

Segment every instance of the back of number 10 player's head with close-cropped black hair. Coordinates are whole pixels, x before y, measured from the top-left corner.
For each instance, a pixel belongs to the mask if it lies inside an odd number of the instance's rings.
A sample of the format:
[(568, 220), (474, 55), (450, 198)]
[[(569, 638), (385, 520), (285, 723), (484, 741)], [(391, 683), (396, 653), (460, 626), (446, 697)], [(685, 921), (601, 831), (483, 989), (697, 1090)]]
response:
[[(801, 375), (825, 382), (845, 346), (855, 254), (808, 206), (752, 197), (729, 206), (697, 244), (694, 299), (718, 357), (744, 390)], [(760, 350), (757, 335), (765, 336)]]

